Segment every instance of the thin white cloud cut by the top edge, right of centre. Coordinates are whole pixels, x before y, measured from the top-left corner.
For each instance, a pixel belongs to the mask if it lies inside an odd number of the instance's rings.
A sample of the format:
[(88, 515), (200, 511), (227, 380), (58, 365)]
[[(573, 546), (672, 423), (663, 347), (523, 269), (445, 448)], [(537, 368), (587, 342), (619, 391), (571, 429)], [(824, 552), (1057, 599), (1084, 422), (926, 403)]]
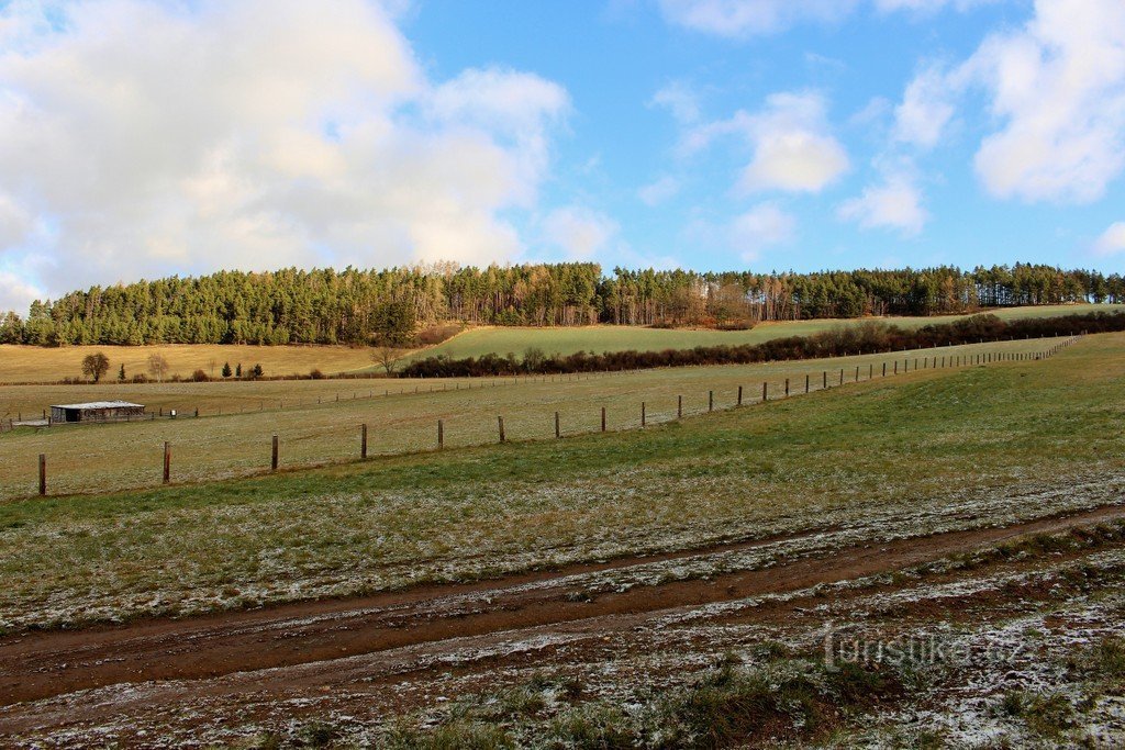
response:
[(660, 0), (665, 19), (677, 26), (724, 37), (783, 31), (801, 21), (832, 21), (857, 0)]

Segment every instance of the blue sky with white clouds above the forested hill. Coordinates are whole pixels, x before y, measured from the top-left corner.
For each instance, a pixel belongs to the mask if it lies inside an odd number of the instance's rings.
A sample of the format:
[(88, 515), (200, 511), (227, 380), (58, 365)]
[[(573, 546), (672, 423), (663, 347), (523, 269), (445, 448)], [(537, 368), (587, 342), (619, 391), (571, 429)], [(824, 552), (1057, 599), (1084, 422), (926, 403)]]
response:
[(1125, 270), (1122, 0), (0, 0), (0, 310), (219, 269)]

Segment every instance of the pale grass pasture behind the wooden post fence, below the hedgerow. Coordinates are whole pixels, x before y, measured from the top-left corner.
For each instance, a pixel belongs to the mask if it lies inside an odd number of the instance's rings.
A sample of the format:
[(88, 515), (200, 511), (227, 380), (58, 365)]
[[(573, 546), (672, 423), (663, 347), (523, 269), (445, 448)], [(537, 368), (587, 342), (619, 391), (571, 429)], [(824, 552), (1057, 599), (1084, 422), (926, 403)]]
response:
[[(1019, 341), (900, 353), (900, 369), (915, 368), (926, 356), (969, 356), (978, 352), (1042, 351), (1053, 343)], [(494, 442), (497, 416), (505, 419), (510, 440), (554, 435), (555, 412), (564, 434), (600, 428), (601, 407), (610, 430), (639, 425), (640, 405), (647, 421), (673, 419), (677, 397), (685, 414), (708, 407), (708, 391), (716, 406), (731, 405), (739, 386), (745, 399), (876, 377), (882, 363), (893, 372), (890, 355), (866, 355), (776, 362), (757, 365), (703, 367), (600, 373), (579, 378), (539, 377), (474, 380), (389, 381), (262, 381), (169, 383), (164, 386), (11, 386), (0, 391), (0, 408), (9, 415), (38, 416), (42, 404), (118, 397), (137, 400), (150, 410), (177, 409), (186, 418), (129, 424), (21, 427), (0, 435), (6, 461), (0, 464), (0, 499), (35, 489), (37, 455), (47, 455), (50, 484), (55, 493), (91, 493), (151, 486), (160, 481), (163, 443), (173, 446), (173, 477), (201, 481), (261, 471), (269, 466), (271, 435), (279, 435), (281, 464), (300, 467), (350, 460), (359, 450), (360, 424), (369, 425), (369, 452), (397, 454), (436, 448), (436, 423), (444, 423), (446, 445), (467, 446)], [(415, 390), (417, 392), (415, 392)], [(336, 400), (336, 398), (340, 400)], [(200, 418), (190, 418), (196, 409)]]

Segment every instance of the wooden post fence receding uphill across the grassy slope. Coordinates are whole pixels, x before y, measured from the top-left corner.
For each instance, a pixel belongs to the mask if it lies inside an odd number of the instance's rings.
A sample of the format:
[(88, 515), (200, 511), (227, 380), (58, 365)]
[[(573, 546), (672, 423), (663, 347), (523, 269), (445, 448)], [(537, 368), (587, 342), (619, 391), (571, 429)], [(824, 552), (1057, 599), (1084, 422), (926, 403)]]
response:
[[(1016, 361), (1042, 361), (1054, 354), (1059, 353), (1063, 349), (1072, 345), (1077, 342), (1080, 336), (1071, 336), (1061, 341), (1053, 343), (1043, 351), (1035, 352), (980, 352), (975, 354), (946, 354), (946, 355), (925, 355), (925, 356), (906, 356), (896, 358), (894, 360), (886, 362), (876, 363), (868, 362), (866, 367), (856, 365), (854, 368), (839, 368), (832, 369), (831, 371), (825, 369), (821, 371), (820, 382), (817, 383), (811, 374), (806, 374), (803, 387), (800, 382), (792, 382), (792, 378), (785, 378), (784, 382), (773, 383), (774, 388), (771, 390), (771, 382), (768, 380), (762, 382), (760, 398), (755, 399), (755, 403), (765, 404), (771, 400), (783, 400), (785, 398), (791, 398), (798, 395), (807, 395), (812, 392), (818, 392), (821, 390), (830, 390), (834, 388), (840, 388), (847, 383), (858, 383), (863, 381), (879, 380), (888, 377), (893, 377), (899, 373), (906, 374), (909, 372), (926, 371), (926, 370), (943, 370), (951, 368), (965, 368), (965, 367), (979, 367), (988, 365), (1001, 362), (1016, 362)], [(890, 367), (889, 367), (890, 365)], [(901, 365), (901, 367), (900, 367)], [(560, 379), (566, 376), (559, 377)], [(528, 378), (525, 380), (532, 380)], [(546, 382), (552, 380), (548, 376), (541, 378), (534, 378), (533, 380), (539, 382)], [(819, 385), (819, 387), (817, 387)], [(447, 389), (448, 390), (448, 389)], [(405, 391), (404, 391), (405, 392)], [(425, 392), (415, 390), (415, 392)], [(753, 389), (750, 392), (755, 392)], [(716, 404), (716, 392), (714, 390), (708, 390), (706, 392), (706, 409), (698, 414), (710, 414), (718, 410), (728, 410), (731, 408), (739, 408), (746, 406), (747, 399), (745, 398), (746, 391), (742, 386), (738, 386), (737, 396), (735, 400), (730, 404), (718, 405)], [(198, 416), (198, 415), (197, 415)], [(673, 421), (681, 419), (684, 417), (684, 397), (678, 395), (676, 397), (676, 415)], [(573, 431), (566, 432), (564, 430), (564, 421), (560, 412), (554, 412), (552, 426), (555, 439), (562, 439), (565, 436), (576, 436), (583, 434), (591, 434), (590, 431)], [(640, 428), (644, 430), (648, 427), (650, 423), (650, 416), (647, 408), (647, 401), (640, 400), (638, 405), (638, 410), (636, 416), (627, 423), (620, 430), (632, 430)], [(369, 443), (368, 443), (368, 424), (363, 423), (358, 425), (359, 427), (359, 450), (358, 460), (363, 461), (368, 459)], [(595, 432), (609, 432), (609, 423), (606, 418), (606, 408), (601, 407), (600, 414), (600, 430)], [(436, 419), (434, 424), (434, 450), (443, 450), (446, 448), (446, 423), (443, 419)], [(507, 432), (505, 430), (504, 416), (496, 416), (496, 432), (494, 441), (496, 443), (503, 444), (510, 441)], [(270, 463), (269, 471), (276, 472), (281, 466), (281, 436), (279, 434), (271, 435), (270, 443)], [(395, 455), (406, 455), (410, 452), (396, 453)], [(351, 459), (354, 461), (356, 459)], [(317, 466), (323, 466), (324, 462), (317, 463)], [(302, 468), (302, 464), (295, 464), (291, 468)], [(47, 455), (39, 454), (38, 457), (38, 494), (40, 496), (47, 495)], [(172, 445), (168, 442), (164, 443), (163, 450), (163, 462), (162, 462), (162, 481), (168, 485), (172, 480)]]

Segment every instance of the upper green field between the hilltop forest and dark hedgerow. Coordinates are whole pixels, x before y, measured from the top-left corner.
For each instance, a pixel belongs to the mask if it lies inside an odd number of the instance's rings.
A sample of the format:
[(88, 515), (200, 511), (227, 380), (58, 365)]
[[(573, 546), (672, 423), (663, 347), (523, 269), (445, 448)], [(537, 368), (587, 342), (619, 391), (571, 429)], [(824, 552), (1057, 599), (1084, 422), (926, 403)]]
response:
[[(993, 314), (1006, 320), (1018, 318), (1055, 317), (1084, 314), (1095, 310), (1125, 309), (1125, 305), (1048, 305), (997, 310)], [(948, 323), (965, 316), (940, 317), (884, 317), (878, 318), (903, 327), (919, 328), (935, 323)], [(783, 336), (808, 336), (838, 326), (855, 325), (857, 320), (786, 320), (762, 323), (750, 331), (712, 331), (684, 328), (634, 328), (621, 326), (590, 326), (580, 328), (512, 328), (485, 327), (467, 331), (433, 349), (417, 352), (412, 358), (444, 355), (452, 359), (512, 352), (521, 355), (528, 347), (538, 346), (547, 354), (575, 352), (619, 352), (627, 350), (655, 351), (691, 349), (720, 344), (758, 344)], [(410, 359), (410, 358), (408, 358)]]

